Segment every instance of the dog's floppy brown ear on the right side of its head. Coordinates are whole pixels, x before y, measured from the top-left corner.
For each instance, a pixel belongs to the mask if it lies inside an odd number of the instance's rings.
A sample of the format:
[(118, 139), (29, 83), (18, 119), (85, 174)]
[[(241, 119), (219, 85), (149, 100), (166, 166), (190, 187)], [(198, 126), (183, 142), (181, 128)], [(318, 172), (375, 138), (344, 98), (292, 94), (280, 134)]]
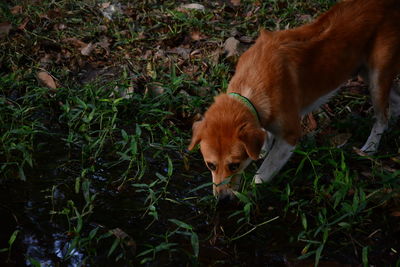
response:
[(259, 158), (266, 137), (267, 132), (261, 127), (246, 123), (239, 128), (238, 138), (243, 142), (247, 155), (253, 160)]

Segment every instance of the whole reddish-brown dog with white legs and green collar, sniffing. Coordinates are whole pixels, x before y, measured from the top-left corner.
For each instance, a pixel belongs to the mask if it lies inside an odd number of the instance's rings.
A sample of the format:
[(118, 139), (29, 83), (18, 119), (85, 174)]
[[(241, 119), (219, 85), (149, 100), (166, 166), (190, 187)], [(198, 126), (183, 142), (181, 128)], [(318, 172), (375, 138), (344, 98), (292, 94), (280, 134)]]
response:
[(254, 177), (270, 181), (301, 137), (300, 117), (358, 74), (369, 83), (376, 118), (361, 150), (373, 154), (390, 114), (400, 115), (400, 88), (393, 82), (399, 73), (400, 0), (346, 0), (311, 24), (261, 31), (240, 57), (227, 93), (193, 124), (189, 150), (200, 143), (214, 194), (224, 198), (274, 138)]

